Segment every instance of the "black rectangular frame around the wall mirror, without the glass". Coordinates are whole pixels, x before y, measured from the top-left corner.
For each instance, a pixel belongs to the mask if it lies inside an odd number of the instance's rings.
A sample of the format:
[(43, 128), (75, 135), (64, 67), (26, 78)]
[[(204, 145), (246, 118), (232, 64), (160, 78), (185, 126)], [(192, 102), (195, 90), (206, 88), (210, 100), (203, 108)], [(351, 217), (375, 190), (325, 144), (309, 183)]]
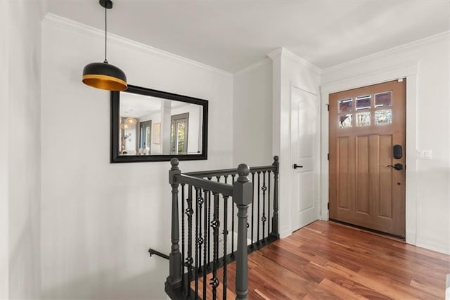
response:
[(111, 91), (111, 149), (110, 162), (165, 162), (173, 157), (179, 160), (202, 160), (207, 159), (207, 138), (208, 138), (208, 101), (193, 98), (189, 96), (177, 95), (175, 93), (167, 93), (165, 91), (157, 91), (146, 89), (141, 86), (128, 85), (125, 91), (127, 93), (137, 93), (143, 96), (156, 98), (164, 98), (168, 100), (176, 100), (186, 103), (202, 105), (203, 107), (203, 124), (202, 124), (202, 152), (201, 154), (188, 155), (119, 155), (119, 112), (120, 112), (120, 91)]

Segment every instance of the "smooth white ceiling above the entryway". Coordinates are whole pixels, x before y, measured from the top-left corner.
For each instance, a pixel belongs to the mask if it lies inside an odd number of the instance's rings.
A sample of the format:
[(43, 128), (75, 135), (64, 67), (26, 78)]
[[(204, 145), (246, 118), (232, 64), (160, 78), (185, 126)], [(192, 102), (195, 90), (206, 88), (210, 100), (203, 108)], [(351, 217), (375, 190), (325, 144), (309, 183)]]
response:
[[(113, 0), (108, 32), (227, 72), (287, 48), (326, 69), (446, 32), (449, 1)], [(97, 0), (47, 0), (49, 13), (104, 29)]]

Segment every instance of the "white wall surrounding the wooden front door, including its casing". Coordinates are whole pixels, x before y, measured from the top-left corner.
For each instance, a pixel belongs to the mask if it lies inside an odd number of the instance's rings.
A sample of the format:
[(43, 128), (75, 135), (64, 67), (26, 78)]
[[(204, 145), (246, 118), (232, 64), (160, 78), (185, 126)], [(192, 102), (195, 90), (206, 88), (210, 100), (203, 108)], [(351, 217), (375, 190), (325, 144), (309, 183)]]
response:
[[(368, 80), (366, 84), (374, 84), (409, 75), (406, 80), (406, 241), (447, 254), (450, 253), (449, 42), (448, 33), (440, 34), (323, 70), (321, 76), (321, 86), (325, 88), (347, 83), (348, 88), (354, 88), (352, 82)], [(411, 65), (417, 71), (410, 72)], [(404, 71), (397, 74), (398, 70)], [(387, 74), (385, 78), (383, 74)], [(390, 78), (389, 74), (396, 77)], [(328, 93), (322, 96), (324, 104)], [(325, 149), (328, 148), (328, 123), (322, 124)], [(416, 150), (432, 150), (432, 159), (417, 159)], [(324, 155), (322, 161), (324, 167), (328, 166)], [(328, 171), (324, 169), (323, 173), (326, 185), (322, 199), (326, 203)]]

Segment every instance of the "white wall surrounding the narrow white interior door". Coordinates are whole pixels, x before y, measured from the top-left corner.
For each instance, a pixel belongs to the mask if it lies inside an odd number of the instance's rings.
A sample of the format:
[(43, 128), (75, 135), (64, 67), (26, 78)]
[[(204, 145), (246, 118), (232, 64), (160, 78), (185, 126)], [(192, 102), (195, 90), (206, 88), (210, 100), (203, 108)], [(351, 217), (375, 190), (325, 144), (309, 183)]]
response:
[[(293, 87), (317, 95), (319, 98), (320, 69), (306, 60), (295, 56), (286, 48), (269, 53), (273, 60), (273, 153), (280, 157), (280, 185), (279, 185), (279, 230), (280, 236), (286, 237), (293, 230), (291, 218), (291, 96)], [(315, 178), (317, 201), (319, 201), (319, 169)], [(319, 218), (319, 216), (318, 216)]]

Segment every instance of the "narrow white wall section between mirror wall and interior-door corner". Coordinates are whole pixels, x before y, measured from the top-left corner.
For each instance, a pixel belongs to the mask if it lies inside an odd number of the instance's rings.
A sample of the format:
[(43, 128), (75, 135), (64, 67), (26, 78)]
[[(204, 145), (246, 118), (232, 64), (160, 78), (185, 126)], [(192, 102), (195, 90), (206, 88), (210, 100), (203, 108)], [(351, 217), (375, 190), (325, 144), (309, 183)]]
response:
[(234, 75), (233, 124), (234, 165), (271, 164), (272, 61), (269, 58)]

